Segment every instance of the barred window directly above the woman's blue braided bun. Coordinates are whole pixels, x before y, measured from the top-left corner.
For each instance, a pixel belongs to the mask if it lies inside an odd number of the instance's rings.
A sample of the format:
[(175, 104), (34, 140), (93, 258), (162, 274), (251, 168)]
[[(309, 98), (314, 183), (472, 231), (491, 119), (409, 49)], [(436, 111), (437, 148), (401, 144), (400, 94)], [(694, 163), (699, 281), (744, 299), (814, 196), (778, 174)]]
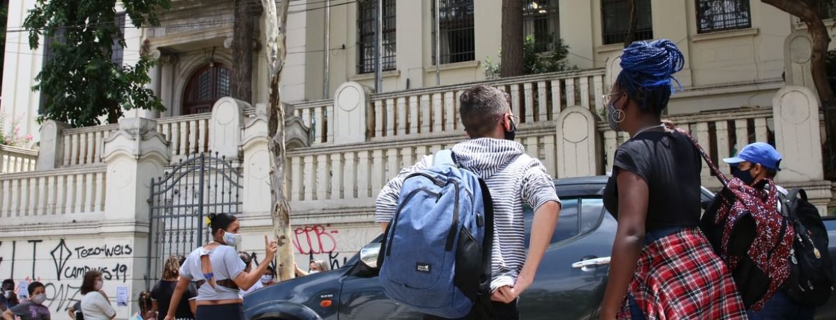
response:
[[(635, 13), (638, 15), (634, 41), (653, 38), (653, 20), (650, 0), (636, 0)], [(601, 0), (601, 21), (604, 24), (604, 44), (624, 43), (630, 32), (630, 1)]]

